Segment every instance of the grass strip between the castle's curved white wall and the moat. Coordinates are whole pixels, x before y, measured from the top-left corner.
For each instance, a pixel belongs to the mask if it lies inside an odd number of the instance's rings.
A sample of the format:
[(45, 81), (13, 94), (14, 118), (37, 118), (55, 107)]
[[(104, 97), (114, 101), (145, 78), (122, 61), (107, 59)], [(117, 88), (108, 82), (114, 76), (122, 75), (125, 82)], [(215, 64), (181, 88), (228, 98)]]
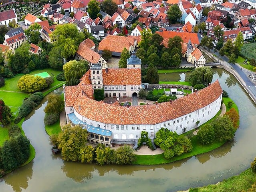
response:
[[(226, 105), (226, 109), (227, 111), (230, 110), (230, 108), (228, 108), (227, 104), (229, 101), (232, 101), (230, 98), (224, 98), (224, 104)], [(232, 105), (232, 108), (235, 108), (238, 111), (238, 107), (236, 106), (236, 104), (234, 103)], [(216, 118), (218, 118), (218, 116), (220, 116), (221, 110), (214, 116), (214, 118), (210, 119), (208, 122), (204, 123), (204, 124), (208, 124), (210, 122), (212, 122), (213, 120), (215, 120)], [(203, 126), (204, 124), (202, 124), (201, 126)], [(199, 127), (200, 128), (200, 127)], [(193, 132), (194, 130), (191, 130), (189, 132), (186, 132), (184, 135), (189, 135)], [(198, 136), (193, 136), (190, 138), (191, 143), (193, 145), (193, 150), (189, 153), (183, 153), (180, 156), (175, 156), (171, 159), (165, 159), (163, 154), (158, 154), (158, 155), (135, 155), (136, 156), (136, 160), (133, 162), (133, 164), (141, 164), (141, 165), (157, 165), (157, 164), (165, 164), (165, 163), (171, 163), (171, 162), (175, 162), (177, 160), (182, 160), (185, 158), (189, 158), (191, 156), (195, 156), (198, 154), (202, 154), (202, 153), (206, 153), (209, 151), (212, 151), (220, 146), (222, 146), (225, 142), (214, 142), (212, 144), (208, 144), (208, 145), (202, 145), (199, 142), (199, 138)]]

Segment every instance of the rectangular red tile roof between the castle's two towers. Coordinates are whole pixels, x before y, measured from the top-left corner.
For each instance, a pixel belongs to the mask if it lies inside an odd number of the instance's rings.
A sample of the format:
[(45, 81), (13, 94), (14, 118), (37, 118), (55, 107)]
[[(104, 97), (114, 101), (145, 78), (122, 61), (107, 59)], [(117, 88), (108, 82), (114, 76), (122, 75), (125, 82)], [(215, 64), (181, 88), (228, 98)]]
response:
[(114, 68), (102, 70), (103, 85), (140, 85), (141, 69)]

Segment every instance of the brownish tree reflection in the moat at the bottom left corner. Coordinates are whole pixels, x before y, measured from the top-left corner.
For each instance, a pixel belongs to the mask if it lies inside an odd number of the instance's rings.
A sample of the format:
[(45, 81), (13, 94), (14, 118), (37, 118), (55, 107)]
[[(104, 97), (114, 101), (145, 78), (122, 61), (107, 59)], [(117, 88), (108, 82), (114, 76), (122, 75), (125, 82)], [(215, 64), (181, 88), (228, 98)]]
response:
[[(23, 189), (28, 188), (28, 180), (30, 180), (33, 175), (32, 166), (33, 162), (19, 168), (18, 173), (17, 171), (14, 171), (11, 174), (8, 174), (6, 177), (4, 177), (5, 183), (10, 185), (12, 190), (15, 192), (20, 192)], [(16, 174), (18, 174), (18, 179), (15, 179), (17, 178)]]

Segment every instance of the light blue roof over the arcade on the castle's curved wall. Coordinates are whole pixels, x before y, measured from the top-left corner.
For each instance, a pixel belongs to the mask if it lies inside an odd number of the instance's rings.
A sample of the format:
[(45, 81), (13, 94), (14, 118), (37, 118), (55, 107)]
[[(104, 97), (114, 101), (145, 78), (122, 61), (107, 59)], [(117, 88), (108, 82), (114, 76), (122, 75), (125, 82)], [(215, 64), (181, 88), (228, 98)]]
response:
[(102, 129), (99, 127), (94, 127), (94, 126), (91, 126), (91, 125), (81, 121), (79, 118), (77, 118), (77, 116), (75, 116), (74, 113), (68, 114), (68, 117), (73, 122), (73, 124), (82, 125), (83, 128), (86, 128), (87, 131), (90, 133), (95, 133), (95, 134), (99, 134), (99, 135), (103, 135), (103, 136), (111, 136), (112, 135), (112, 132), (110, 130)]

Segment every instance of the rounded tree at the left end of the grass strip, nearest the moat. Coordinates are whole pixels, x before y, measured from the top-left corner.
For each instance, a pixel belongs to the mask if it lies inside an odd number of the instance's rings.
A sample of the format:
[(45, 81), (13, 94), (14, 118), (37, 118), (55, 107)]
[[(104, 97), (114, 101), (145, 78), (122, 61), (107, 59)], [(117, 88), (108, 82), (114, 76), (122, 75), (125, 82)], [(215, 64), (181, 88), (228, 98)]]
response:
[(121, 146), (115, 151), (116, 164), (131, 164), (133, 161), (135, 161), (135, 154), (129, 145)]

